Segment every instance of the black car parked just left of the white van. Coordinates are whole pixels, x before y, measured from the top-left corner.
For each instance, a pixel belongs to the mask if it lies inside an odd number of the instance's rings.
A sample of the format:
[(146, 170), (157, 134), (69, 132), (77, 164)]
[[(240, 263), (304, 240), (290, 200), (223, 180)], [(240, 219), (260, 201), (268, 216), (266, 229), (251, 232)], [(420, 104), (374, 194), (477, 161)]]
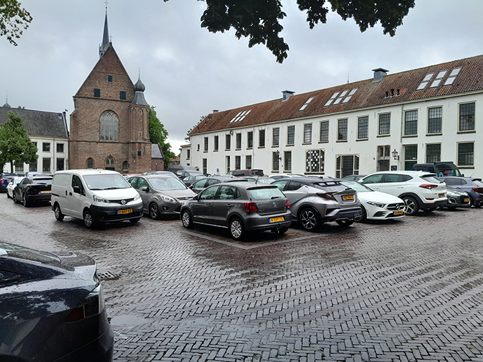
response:
[(48, 202), (52, 194), (52, 176), (32, 176), (20, 181), (13, 189), (14, 203), (28, 206), (32, 202)]

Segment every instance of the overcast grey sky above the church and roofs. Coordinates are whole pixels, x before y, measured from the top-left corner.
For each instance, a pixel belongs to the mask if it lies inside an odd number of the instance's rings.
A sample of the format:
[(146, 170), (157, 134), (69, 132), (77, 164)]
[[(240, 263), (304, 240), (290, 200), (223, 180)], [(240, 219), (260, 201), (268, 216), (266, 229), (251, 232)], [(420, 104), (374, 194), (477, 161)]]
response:
[[(0, 37), (0, 86), (8, 103), (31, 110), (73, 111), (72, 96), (99, 60), (106, 4), (102, 0), (23, 0), (33, 21), (18, 46)], [(155, 105), (179, 153), (186, 131), (213, 110), (228, 110), (349, 81), (483, 54), (483, 1), (416, 0), (395, 37), (382, 28), (359, 32), (352, 19), (331, 13), (308, 28), (295, 0), (282, 0), (283, 64), (264, 46), (248, 48), (235, 32), (200, 26), (206, 9), (196, 0), (110, 0), (108, 26), (133, 83), (138, 69), (144, 95)], [(0, 105), (6, 100), (0, 98)]]

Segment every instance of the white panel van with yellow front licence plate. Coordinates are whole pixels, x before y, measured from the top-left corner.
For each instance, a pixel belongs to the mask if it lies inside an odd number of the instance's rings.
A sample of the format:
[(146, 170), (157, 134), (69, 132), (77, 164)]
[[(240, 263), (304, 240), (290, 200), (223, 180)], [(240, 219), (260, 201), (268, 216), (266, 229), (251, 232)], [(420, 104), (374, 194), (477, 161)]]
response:
[(137, 223), (143, 216), (137, 191), (119, 172), (109, 170), (55, 172), (50, 204), (55, 219), (75, 217), (88, 228), (123, 220)]

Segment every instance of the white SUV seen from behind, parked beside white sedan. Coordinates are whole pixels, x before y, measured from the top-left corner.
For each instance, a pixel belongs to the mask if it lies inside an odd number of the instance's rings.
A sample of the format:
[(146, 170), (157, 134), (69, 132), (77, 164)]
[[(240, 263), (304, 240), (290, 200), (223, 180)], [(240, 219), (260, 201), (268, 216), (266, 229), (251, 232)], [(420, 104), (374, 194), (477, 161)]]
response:
[(424, 171), (381, 171), (369, 174), (359, 182), (375, 191), (403, 199), (406, 214), (414, 215), (420, 209), (431, 212), (446, 204), (446, 183), (435, 176)]

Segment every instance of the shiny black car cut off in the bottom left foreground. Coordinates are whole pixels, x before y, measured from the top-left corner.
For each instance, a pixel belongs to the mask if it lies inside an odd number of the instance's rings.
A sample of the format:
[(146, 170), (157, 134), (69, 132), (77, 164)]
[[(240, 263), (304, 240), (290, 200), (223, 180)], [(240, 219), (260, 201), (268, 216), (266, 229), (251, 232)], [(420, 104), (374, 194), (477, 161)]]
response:
[(96, 263), (0, 241), (0, 360), (112, 361)]

